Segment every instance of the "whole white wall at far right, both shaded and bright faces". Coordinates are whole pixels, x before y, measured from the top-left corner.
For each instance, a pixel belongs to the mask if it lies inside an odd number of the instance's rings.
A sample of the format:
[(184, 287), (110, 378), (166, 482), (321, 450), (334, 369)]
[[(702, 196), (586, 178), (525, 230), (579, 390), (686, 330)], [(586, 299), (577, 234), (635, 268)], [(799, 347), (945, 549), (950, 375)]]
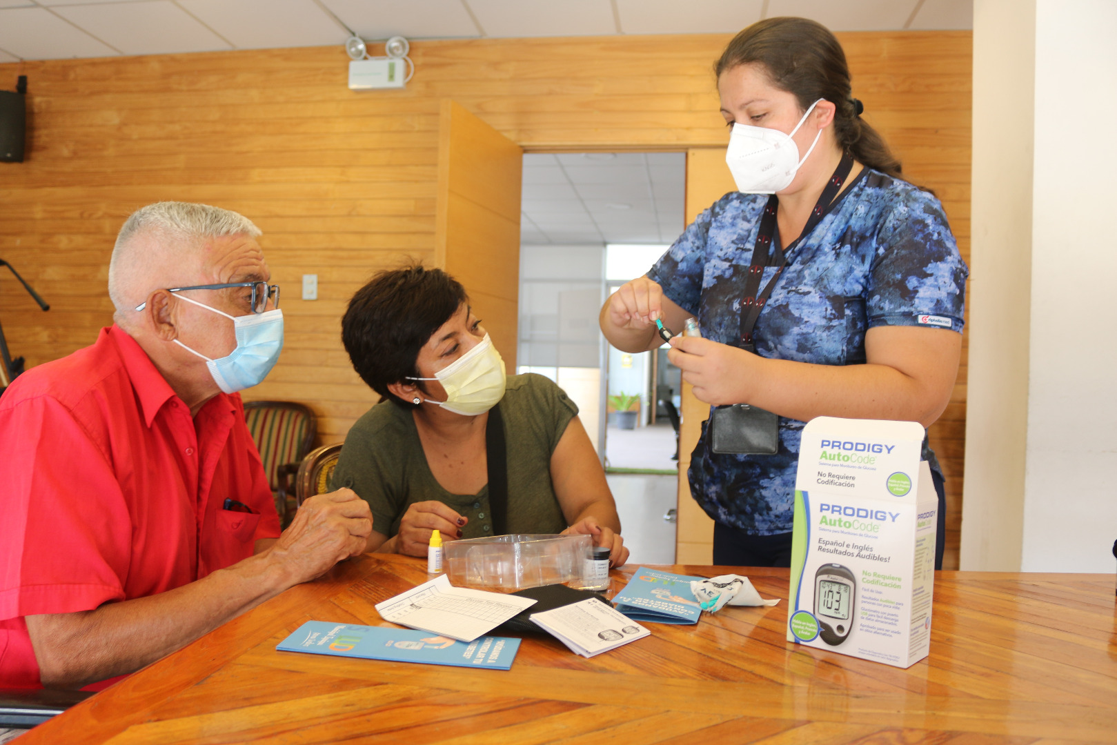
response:
[(962, 569), (1113, 572), (1117, 2), (974, 3)]

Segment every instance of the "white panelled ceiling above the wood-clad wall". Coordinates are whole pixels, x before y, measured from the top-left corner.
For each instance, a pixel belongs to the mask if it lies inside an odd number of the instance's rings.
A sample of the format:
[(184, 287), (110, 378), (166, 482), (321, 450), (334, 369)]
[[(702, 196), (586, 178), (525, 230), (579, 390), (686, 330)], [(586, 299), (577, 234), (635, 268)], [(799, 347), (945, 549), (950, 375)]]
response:
[(968, 29), (973, 0), (0, 0), (0, 63), (367, 40), (705, 34), (805, 16), (836, 31)]

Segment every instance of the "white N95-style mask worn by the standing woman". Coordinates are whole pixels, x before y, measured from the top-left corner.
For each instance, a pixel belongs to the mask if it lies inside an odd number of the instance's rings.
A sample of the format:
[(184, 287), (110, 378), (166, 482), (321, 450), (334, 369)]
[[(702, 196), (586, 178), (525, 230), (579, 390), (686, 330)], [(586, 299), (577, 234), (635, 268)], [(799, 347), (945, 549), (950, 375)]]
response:
[(800, 160), (799, 146), (792, 137), (799, 132), (799, 127), (803, 126), (803, 122), (814, 111), (819, 101), (811, 104), (791, 134), (751, 124), (733, 125), (729, 146), (725, 151), (725, 162), (729, 166), (729, 173), (733, 174), (734, 183), (737, 184), (737, 191), (746, 194), (774, 194), (791, 185), (799, 166), (806, 162), (814, 145), (819, 144), (819, 137), (822, 136), (822, 130), (819, 130), (806, 155)]

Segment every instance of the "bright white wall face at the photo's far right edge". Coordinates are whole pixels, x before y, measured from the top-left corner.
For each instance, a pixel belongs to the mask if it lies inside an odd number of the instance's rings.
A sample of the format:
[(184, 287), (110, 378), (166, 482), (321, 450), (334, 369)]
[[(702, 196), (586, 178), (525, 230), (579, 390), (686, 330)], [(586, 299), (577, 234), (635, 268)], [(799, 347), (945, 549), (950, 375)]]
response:
[(1035, 2), (1024, 571), (1113, 572), (1117, 2)]

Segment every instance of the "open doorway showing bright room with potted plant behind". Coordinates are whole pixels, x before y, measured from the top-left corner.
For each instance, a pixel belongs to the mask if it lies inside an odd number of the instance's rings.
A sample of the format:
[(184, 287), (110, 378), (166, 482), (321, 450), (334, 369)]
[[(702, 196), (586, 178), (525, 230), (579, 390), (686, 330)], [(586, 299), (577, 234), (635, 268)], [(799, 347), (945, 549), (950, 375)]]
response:
[(666, 354), (613, 350), (598, 312), (682, 232), (685, 198), (686, 153), (524, 155), (516, 372), (577, 404), (634, 562), (675, 560), (677, 434), (659, 401), (677, 409), (681, 390)]

